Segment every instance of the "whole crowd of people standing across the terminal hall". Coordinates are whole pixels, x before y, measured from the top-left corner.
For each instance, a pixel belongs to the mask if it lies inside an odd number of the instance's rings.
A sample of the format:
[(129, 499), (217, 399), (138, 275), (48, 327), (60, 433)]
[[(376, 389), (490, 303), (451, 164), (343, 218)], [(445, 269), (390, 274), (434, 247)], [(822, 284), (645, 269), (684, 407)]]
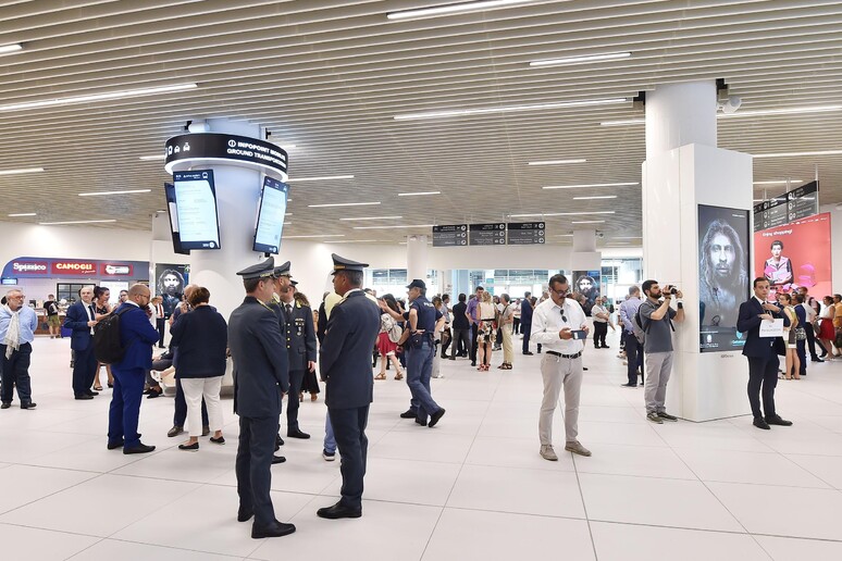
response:
[[(240, 271), (246, 297), (227, 321), (211, 304), (210, 291), (197, 285), (184, 288), (183, 299), (172, 306), (169, 317), (163, 299), (153, 298), (146, 285), (121, 291), (115, 306), (110, 304), (107, 288), (83, 287), (63, 322), (71, 331), (72, 388), (75, 399), (94, 399), (103, 390), (100, 372), (106, 367), (107, 384), (113, 388), (107, 448), (122, 449), (125, 454), (156, 449), (140, 440), (139, 409), (144, 394), (148, 399), (162, 395), (165, 379), (175, 386), (173, 427), (168, 436), (187, 432), (187, 439), (177, 448), (197, 452), (200, 437), (208, 435), (212, 445), (224, 445), (220, 392), (223, 377), (232, 372), (234, 411), (239, 419), (237, 520), (253, 518), (251, 535), (262, 538), (295, 532), (294, 525), (274, 516), (270, 467), (285, 461), (276, 453), (284, 444), (284, 417), (287, 438), (310, 438), (299, 426), (298, 411), (305, 395), (318, 400), (317, 372), (326, 388), (322, 458), (333, 461), (337, 451), (342, 458), (342, 498), (318, 511), (326, 519), (362, 515), (369, 406), (375, 381), (387, 379), (387, 370), (394, 369), (394, 379), (406, 378), (409, 389), (409, 407), (399, 416), (435, 427), (446, 413), (431, 385), (431, 378), (442, 376), (441, 361), (466, 359), (480, 372), (492, 365), (512, 370), (513, 341), (519, 335), (522, 354), (533, 354), (530, 345), (543, 353), (541, 457), (558, 460), (553, 419), (560, 400), (565, 450), (590, 457), (591, 451), (579, 441), (578, 426), (583, 372), (587, 370), (583, 352), (587, 340), (594, 349), (608, 349), (608, 329), (619, 328), (620, 357), (628, 367), (623, 386), (637, 387), (642, 378), (646, 419), (657, 424), (678, 421), (666, 407), (672, 334), (684, 320), (683, 294), (673, 286), (661, 288), (649, 279), (631, 287), (617, 310), (615, 325), (615, 309), (607, 298), (591, 295), (589, 300), (587, 295), (571, 291), (571, 283), (561, 274), (549, 278), (540, 298), (530, 292), (522, 298), (495, 296), (480, 286), (470, 297), (459, 294), (450, 306), (449, 295), (429, 298), (423, 279), (407, 286), (406, 300), (391, 294), (377, 296), (362, 288), (366, 263), (336, 254), (333, 259), (334, 290), (323, 295), (318, 310), (297, 290), (289, 262), (275, 266), (270, 258)], [(587, 280), (579, 279), (572, 287), (589, 288)], [(775, 387), (779, 377), (806, 375), (807, 351), (813, 361), (842, 358), (842, 347), (837, 345), (842, 333), (842, 297), (826, 297), (821, 306), (802, 288), (794, 295), (778, 294), (777, 303), (771, 303), (769, 289), (766, 277), (754, 279), (754, 296), (740, 304), (736, 320), (739, 331), (746, 334), (743, 354), (748, 361), (753, 423), (761, 429), (792, 424), (776, 411)], [(161, 320), (165, 317), (170, 346), (153, 360), (152, 349), (163, 344)], [(773, 320), (782, 321), (783, 336), (761, 336), (761, 323)], [(114, 333), (119, 333), (120, 353), (107, 360), (95, 335), (113, 325), (119, 326)], [(11, 407), (14, 389), (22, 409), (36, 408), (28, 375), (36, 328), (35, 312), (24, 304), (23, 292), (10, 290), (0, 308), (2, 409)], [(57, 336), (52, 329), (50, 334)], [(496, 361), (499, 350), (503, 357)], [(779, 356), (784, 357), (782, 370)], [(287, 407), (282, 416), (284, 396)]]

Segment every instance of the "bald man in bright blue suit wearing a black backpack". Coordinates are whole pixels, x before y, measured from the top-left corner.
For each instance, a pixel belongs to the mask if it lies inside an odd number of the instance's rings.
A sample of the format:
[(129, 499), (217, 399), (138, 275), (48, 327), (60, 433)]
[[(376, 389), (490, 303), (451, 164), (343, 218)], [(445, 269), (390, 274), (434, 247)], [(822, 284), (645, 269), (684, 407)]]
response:
[(128, 299), (114, 312), (120, 316), (120, 345), (125, 353), (111, 364), (114, 391), (108, 415), (108, 449), (122, 446), (123, 453), (154, 450), (154, 446), (143, 444), (137, 433), (144, 382), (152, 369), (152, 345), (158, 340), (158, 332), (149, 323), (150, 298), (148, 286), (134, 285), (128, 289)]

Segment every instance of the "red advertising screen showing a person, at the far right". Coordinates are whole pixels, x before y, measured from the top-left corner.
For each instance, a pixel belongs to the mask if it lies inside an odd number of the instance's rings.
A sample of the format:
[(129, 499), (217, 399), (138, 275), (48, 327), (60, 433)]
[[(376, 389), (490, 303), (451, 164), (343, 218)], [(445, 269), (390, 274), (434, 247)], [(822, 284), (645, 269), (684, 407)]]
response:
[(754, 274), (769, 280), (769, 300), (805, 286), (814, 298), (832, 295), (830, 213), (754, 233)]

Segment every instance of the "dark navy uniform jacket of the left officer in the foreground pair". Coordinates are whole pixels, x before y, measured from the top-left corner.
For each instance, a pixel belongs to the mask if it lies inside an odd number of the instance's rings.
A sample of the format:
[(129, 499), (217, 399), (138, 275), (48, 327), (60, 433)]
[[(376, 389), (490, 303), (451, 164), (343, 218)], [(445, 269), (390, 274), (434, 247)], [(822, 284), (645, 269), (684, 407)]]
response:
[(289, 360), (275, 312), (247, 296), (228, 317), (228, 347), (234, 359), (234, 412), (277, 417), (281, 391), (289, 391)]

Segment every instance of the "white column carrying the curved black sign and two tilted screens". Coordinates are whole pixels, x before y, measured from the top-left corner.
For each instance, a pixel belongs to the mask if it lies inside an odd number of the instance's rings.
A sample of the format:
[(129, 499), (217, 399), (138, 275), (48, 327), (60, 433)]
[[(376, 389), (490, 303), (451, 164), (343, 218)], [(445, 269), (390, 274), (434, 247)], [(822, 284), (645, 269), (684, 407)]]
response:
[[(260, 138), (258, 125), (227, 120), (209, 120), (207, 123), (210, 133)], [(210, 290), (210, 303), (227, 320), (245, 296), (243, 279), (237, 276), (237, 271), (263, 259), (260, 253), (251, 251), (261, 174), (224, 162), (208, 167), (213, 170), (221, 249), (193, 250), (187, 259), (190, 263), (190, 283)], [(176, 163), (174, 170), (187, 171), (189, 167), (181, 167)]]

